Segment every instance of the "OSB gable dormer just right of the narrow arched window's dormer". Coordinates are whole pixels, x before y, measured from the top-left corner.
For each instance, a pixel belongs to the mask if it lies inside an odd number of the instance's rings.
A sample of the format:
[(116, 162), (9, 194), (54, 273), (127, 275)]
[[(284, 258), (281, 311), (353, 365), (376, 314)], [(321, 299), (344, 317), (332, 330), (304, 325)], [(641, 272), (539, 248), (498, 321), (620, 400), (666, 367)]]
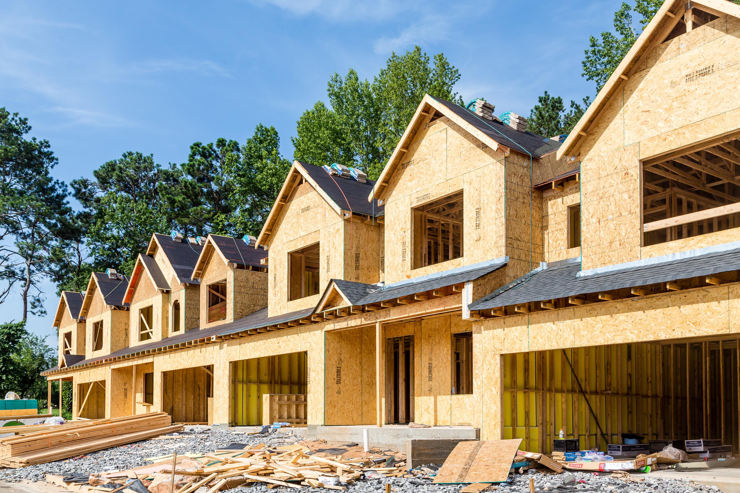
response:
[(254, 239), (209, 234), (191, 279), (201, 288), (201, 327), (234, 322), (267, 306), (266, 254)]

